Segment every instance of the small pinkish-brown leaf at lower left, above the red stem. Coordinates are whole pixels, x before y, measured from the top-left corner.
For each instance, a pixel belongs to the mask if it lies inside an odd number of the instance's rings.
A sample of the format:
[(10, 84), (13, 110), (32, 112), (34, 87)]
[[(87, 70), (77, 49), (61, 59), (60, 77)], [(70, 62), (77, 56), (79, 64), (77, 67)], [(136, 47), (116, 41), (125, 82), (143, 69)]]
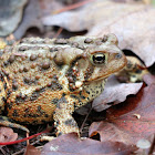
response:
[(18, 138), (18, 134), (9, 127), (0, 127), (0, 142), (12, 142)]

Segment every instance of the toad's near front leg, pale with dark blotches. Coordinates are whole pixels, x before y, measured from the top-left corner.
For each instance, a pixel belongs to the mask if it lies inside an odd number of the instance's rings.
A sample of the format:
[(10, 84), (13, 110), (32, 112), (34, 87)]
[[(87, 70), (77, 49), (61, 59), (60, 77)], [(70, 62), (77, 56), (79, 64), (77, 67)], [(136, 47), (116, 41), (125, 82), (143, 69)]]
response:
[(72, 113), (74, 112), (75, 102), (64, 96), (58, 102), (53, 113), (54, 126), (56, 127), (56, 136), (75, 132), (80, 136), (79, 127)]

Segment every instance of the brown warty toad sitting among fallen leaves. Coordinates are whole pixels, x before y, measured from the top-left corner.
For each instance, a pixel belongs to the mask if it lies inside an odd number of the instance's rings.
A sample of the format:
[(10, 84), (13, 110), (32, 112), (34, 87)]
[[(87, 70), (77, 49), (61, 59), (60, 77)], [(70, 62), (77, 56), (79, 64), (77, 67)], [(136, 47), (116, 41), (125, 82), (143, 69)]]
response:
[[(72, 113), (95, 99), (126, 65), (113, 34), (23, 39), (0, 51), (0, 113), (23, 124), (54, 120), (56, 134), (78, 132)], [(2, 116), (0, 124), (29, 132)]]

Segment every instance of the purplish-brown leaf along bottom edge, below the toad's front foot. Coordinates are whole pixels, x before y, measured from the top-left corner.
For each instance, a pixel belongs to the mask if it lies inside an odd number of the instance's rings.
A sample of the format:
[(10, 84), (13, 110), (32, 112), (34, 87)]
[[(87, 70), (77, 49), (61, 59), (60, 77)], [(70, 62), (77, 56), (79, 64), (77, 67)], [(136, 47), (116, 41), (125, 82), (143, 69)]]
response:
[(43, 146), (41, 155), (125, 155), (136, 148), (122, 143), (99, 142), (91, 138), (80, 140), (76, 134), (65, 134), (49, 142)]

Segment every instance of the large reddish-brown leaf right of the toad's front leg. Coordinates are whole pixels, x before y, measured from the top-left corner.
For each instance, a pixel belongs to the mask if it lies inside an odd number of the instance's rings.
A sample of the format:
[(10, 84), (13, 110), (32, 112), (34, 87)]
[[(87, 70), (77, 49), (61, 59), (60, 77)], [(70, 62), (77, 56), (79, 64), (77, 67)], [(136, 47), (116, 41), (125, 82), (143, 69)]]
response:
[[(155, 76), (151, 76), (155, 81)], [(101, 141), (122, 142), (126, 145), (136, 144), (155, 133), (155, 83), (145, 81), (136, 96), (106, 111), (107, 121), (95, 122), (90, 127), (90, 136), (99, 133)], [(134, 114), (141, 115), (140, 118)]]

